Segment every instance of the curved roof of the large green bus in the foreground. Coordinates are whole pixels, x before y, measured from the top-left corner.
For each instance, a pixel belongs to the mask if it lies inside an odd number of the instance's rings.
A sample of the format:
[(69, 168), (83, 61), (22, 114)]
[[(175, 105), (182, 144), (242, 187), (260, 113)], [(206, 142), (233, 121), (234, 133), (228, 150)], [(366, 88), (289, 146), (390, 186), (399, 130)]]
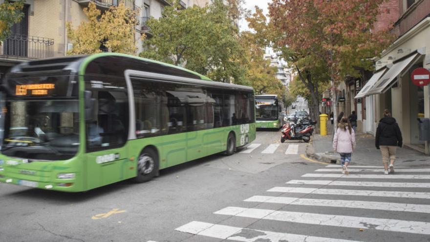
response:
[[(161, 74), (162, 76), (169, 75), (182, 77), (179, 78), (180, 80), (178, 81), (205, 86), (253, 90), (251, 87), (214, 82), (206, 76), (179, 66), (113, 52), (94, 55), (73, 55), (23, 62), (14, 66), (7, 76), (15, 77), (22, 75), (37, 75), (41, 74), (41, 72), (58, 73), (62, 71), (79, 75), (93, 74), (124, 76), (124, 71), (126, 70), (151, 72)], [(199, 82), (196, 83), (197, 80)]]

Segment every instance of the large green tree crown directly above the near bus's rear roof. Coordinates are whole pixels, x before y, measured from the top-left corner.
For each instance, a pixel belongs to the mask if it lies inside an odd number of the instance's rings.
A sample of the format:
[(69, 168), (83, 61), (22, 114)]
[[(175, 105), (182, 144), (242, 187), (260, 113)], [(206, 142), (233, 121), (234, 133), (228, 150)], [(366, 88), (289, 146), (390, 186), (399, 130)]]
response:
[(242, 84), (243, 49), (229, 11), (222, 0), (203, 8), (166, 7), (162, 18), (148, 21), (153, 37), (145, 41), (150, 48), (140, 56), (184, 66), (215, 81)]

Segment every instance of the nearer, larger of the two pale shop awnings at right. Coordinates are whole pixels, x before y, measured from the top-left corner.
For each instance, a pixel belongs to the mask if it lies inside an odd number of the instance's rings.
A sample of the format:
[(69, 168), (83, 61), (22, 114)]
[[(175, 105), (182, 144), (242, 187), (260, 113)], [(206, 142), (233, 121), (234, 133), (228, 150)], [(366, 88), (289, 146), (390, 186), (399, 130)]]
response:
[(397, 76), (404, 71), (407, 71), (408, 68), (412, 66), (420, 57), (421, 55), (419, 53), (415, 53), (405, 59), (401, 59), (398, 62), (393, 63), (394, 65), (388, 69), (388, 71), (375, 83), (375, 85), (373, 85), (372, 88), (370, 88), (370, 90), (367, 92), (367, 95), (381, 94), (386, 92), (395, 84)]

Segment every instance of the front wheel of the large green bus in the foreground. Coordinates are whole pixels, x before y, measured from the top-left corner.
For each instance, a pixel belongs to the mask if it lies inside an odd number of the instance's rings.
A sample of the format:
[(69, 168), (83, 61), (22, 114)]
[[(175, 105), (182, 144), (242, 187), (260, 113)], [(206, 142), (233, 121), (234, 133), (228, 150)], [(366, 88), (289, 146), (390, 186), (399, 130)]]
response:
[(134, 181), (147, 182), (158, 174), (158, 154), (151, 148), (145, 148), (137, 159), (137, 176)]

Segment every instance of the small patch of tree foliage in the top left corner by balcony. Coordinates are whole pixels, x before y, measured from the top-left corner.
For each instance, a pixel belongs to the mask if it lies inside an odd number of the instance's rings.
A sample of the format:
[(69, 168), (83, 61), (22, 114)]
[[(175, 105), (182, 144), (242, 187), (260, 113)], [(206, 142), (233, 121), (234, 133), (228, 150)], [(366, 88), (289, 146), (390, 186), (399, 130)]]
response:
[(23, 0), (0, 4), (0, 44), (10, 35), (10, 28), (24, 17), (21, 11), (23, 6)]

